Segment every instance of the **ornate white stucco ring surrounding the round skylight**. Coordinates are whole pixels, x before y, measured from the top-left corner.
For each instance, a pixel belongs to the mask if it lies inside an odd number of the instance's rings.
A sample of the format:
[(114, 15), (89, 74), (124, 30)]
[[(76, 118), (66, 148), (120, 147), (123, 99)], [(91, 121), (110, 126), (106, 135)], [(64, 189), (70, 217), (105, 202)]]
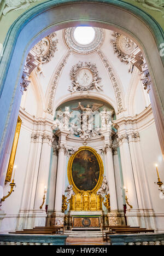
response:
[(104, 31), (102, 28), (93, 27), (95, 30), (95, 37), (92, 42), (89, 44), (80, 44), (75, 40), (74, 31), (75, 27), (66, 28), (63, 31), (63, 38), (68, 48), (72, 49), (74, 53), (78, 54), (89, 54), (96, 51), (103, 43), (104, 40)]

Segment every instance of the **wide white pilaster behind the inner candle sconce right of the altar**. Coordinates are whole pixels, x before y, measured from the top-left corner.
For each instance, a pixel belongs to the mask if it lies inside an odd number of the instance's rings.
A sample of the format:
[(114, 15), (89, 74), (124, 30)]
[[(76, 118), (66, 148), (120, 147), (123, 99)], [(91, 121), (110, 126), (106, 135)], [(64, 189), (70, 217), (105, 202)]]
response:
[[(124, 178), (124, 186), (128, 190), (127, 197), (130, 205), (133, 209), (138, 209), (136, 184), (134, 182), (134, 174), (131, 160), (130, 148), (128, 145), (128, 136), (126, 133), (118, 137), (121, 154), (122, 174)], [(130, 210), (130, 206), (127, 205), (127, 209)]]

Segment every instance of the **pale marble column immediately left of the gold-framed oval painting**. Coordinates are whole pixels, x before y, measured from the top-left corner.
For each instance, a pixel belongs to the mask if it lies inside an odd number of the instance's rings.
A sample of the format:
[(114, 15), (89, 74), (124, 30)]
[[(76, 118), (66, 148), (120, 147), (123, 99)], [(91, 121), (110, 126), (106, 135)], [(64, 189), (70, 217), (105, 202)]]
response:
[(62, 195), (63, 183), (65, 183), (66, 176), (66, 136), (68, 131), (57, 131), (55, 135), (58, 137), (58, 164), (57, 164), (57, 178), (56, 178), (56, 195), (55, 195), (55, 225), (63, 225), (64, 214), (62, 213)]

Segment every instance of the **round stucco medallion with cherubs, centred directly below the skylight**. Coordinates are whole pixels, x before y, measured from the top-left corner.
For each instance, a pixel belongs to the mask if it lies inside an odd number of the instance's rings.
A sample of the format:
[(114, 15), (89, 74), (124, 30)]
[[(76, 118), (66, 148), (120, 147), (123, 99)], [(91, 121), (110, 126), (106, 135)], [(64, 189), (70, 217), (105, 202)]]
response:
[(101, 78), (98, 76), (98, 71), (95, 63), (79, 61), (74, 65), (70, 72), (72, 80), (72, 88), (69, 86), (69, 91), (91, 91), (96, 89), (102, 91), (102, 85), (99, 85)]

